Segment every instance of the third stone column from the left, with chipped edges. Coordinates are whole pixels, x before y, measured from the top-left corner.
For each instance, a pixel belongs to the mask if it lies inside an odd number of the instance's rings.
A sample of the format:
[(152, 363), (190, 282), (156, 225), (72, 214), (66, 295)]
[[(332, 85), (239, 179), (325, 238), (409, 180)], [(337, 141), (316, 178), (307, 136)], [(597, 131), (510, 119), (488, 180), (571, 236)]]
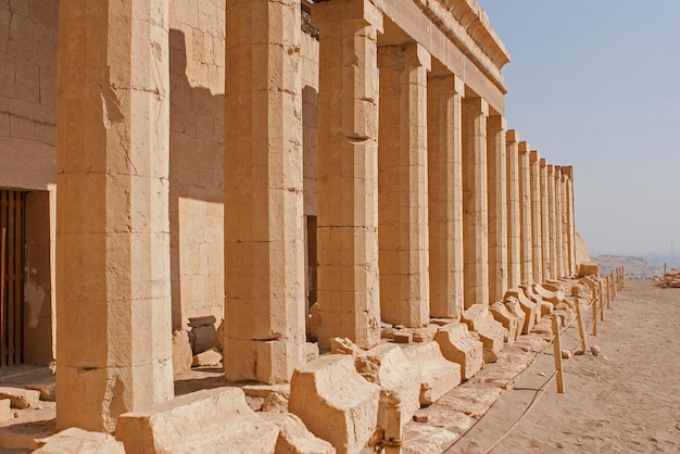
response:
[(314, 4), (318, 93), (318, 342), (380, 340), (378, 61), (382, 16), (368, 0)]

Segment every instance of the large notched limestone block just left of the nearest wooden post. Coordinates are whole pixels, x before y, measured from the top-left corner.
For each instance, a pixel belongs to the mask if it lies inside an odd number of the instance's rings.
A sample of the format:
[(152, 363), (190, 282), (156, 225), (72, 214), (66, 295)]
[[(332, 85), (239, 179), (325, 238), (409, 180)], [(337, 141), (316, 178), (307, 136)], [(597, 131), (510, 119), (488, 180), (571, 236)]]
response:
[(288, 408), (338, 453), (357, 453), (376, 429), (379, 395), (352, 356), (328, 355), (293, 371)]

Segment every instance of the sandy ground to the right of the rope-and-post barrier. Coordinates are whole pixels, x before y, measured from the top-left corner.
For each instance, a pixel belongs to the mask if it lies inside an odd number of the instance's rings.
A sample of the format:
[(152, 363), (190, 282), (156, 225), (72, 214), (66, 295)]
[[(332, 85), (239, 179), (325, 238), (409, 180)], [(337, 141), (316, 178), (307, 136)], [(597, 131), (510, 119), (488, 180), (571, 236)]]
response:
[[(588, 336), (601, 355), (565, 362), (564, 394), (549, 380), (551, 346), (446, 452), (680, 452), (679, 325), (680, 289), (626, 280), (597, 336)], [(563, 348), (577, 344), (572, 327)]]

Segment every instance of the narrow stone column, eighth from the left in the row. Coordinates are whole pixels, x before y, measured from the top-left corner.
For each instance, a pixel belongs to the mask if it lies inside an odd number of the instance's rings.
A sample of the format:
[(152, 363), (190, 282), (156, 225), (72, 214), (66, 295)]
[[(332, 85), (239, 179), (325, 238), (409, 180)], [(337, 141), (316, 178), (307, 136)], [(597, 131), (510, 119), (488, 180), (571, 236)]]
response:
[(516, 288), (521, 280), (519, 227), (519, 163), (518, 134), (511, 129), (505, 135), (507, 172), (507, 287)]

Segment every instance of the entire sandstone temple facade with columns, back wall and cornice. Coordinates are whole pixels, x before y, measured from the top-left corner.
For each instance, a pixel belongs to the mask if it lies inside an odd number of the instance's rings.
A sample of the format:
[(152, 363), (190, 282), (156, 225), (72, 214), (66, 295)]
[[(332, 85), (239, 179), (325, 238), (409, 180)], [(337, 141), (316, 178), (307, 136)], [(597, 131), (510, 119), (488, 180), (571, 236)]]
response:
[(191, 317), (284, 383), (572, 276), (508, 62), (476, 0), (0, 0), (0, 366), (55, 360), (56, 427), (112, 432)]

